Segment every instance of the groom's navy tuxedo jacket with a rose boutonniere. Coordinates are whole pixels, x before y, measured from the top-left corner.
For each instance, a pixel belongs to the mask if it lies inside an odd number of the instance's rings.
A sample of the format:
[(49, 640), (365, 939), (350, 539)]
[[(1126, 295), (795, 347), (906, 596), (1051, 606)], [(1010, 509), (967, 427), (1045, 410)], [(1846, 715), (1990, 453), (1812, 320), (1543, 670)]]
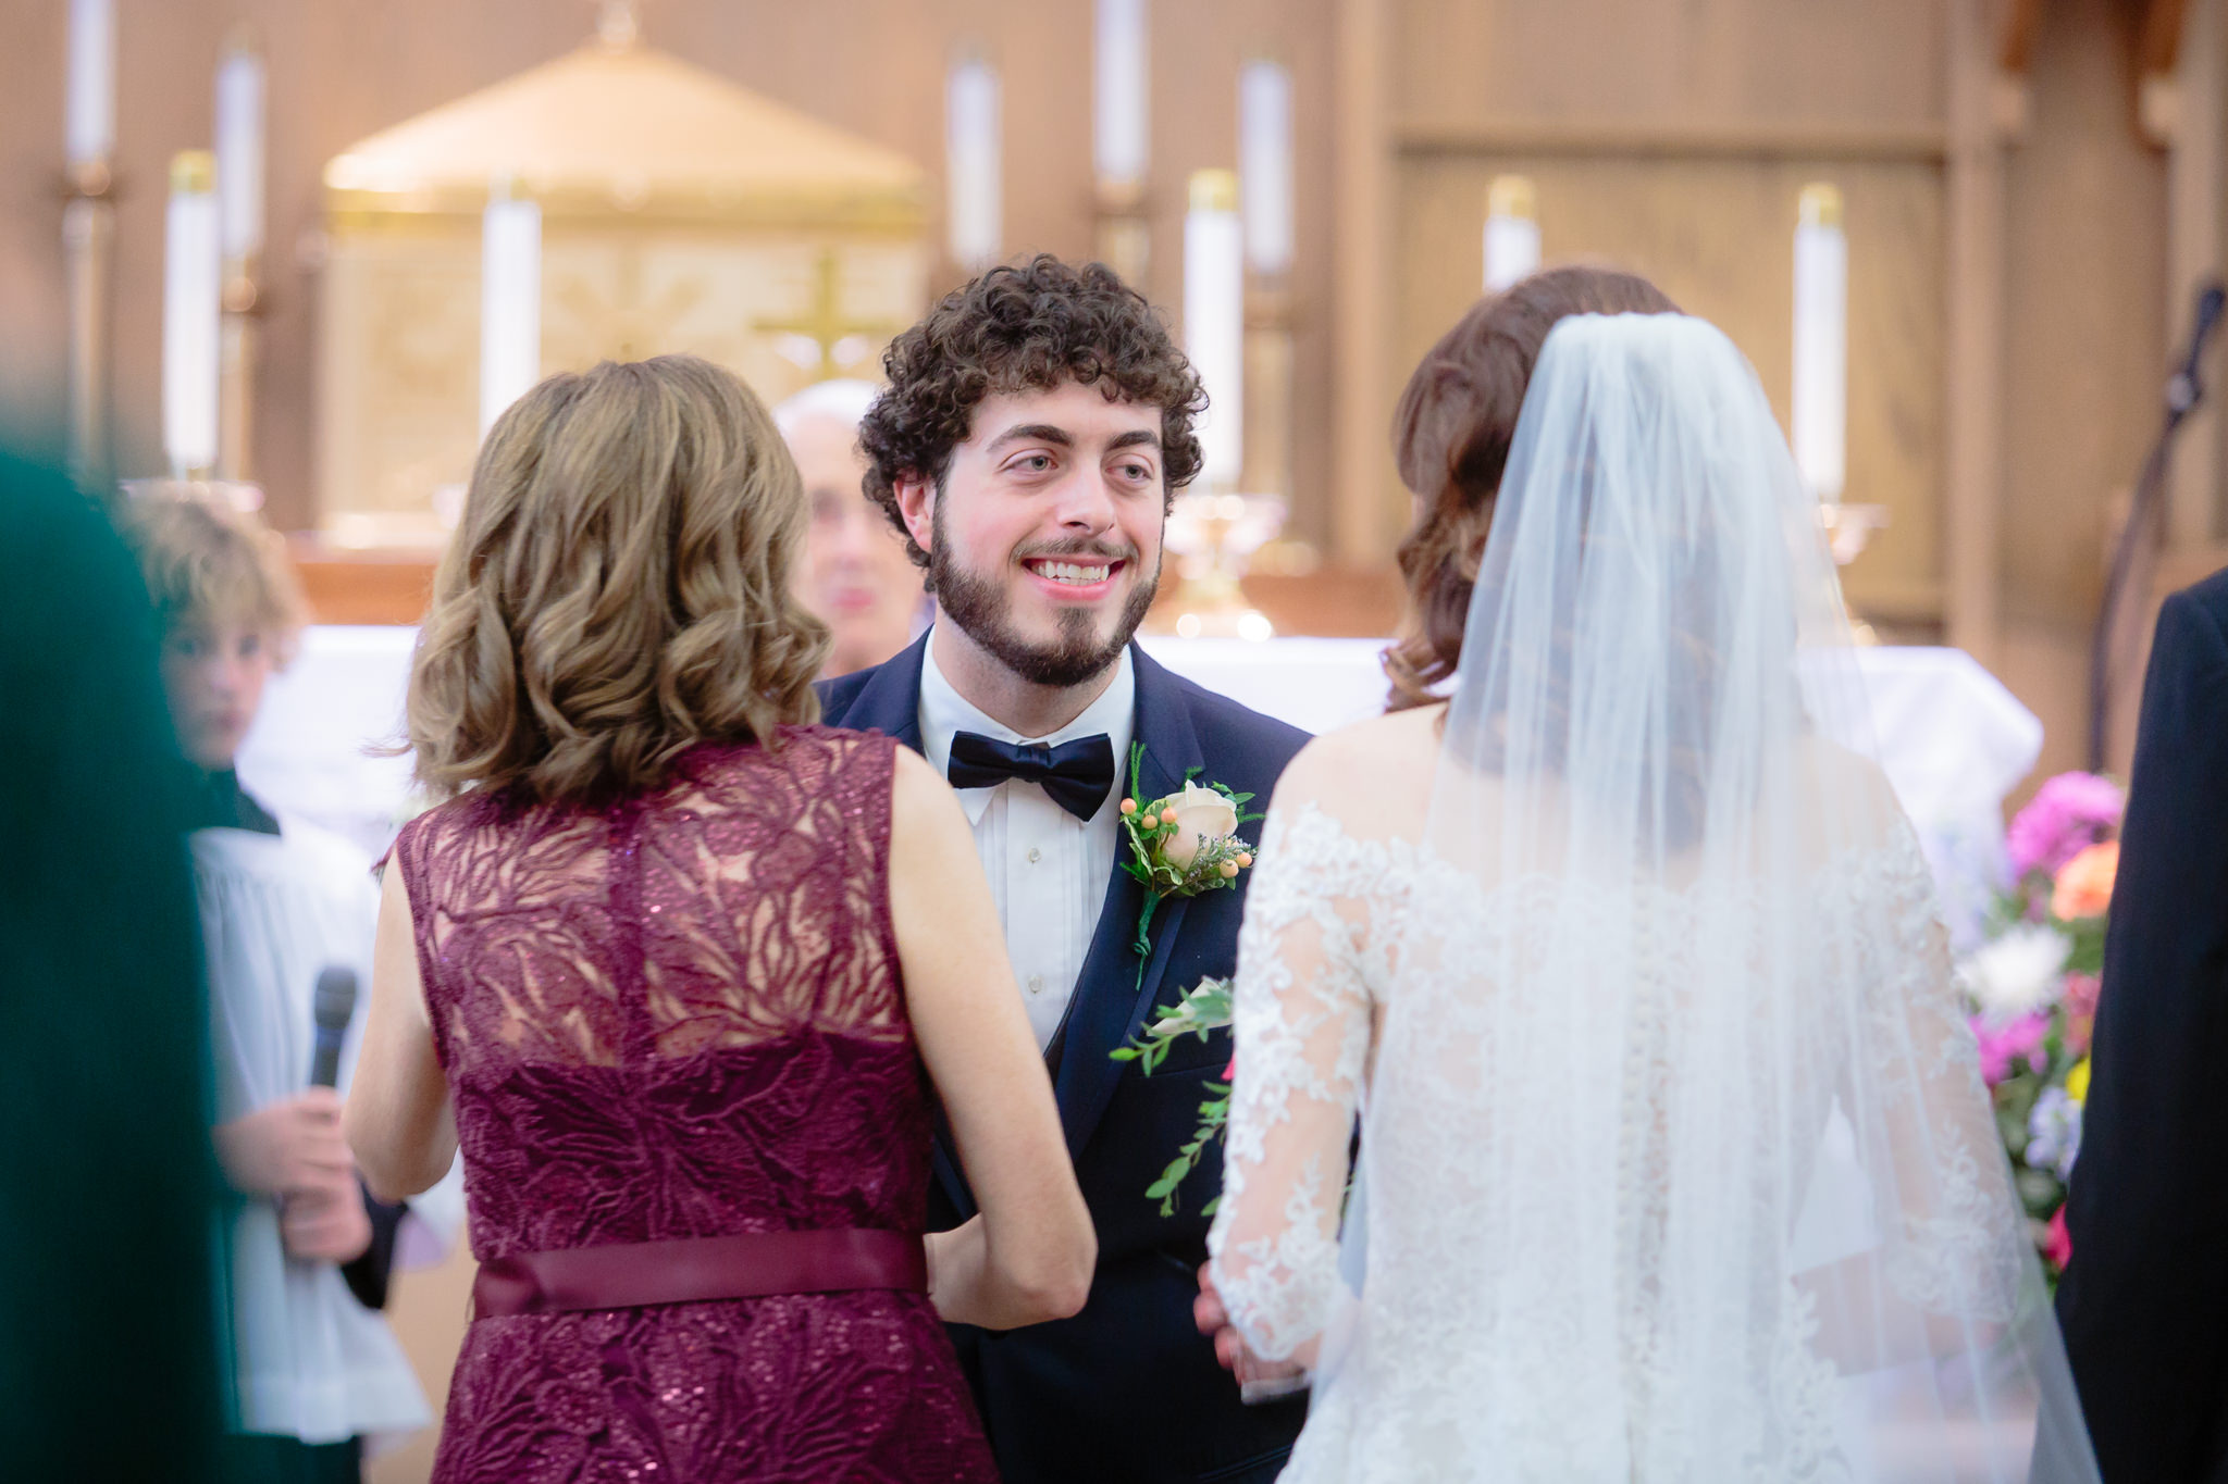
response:
[[(887, 665), (822, 683), (822, 719), (885, 732), (918, 752), (925, 652), (927, 636)], [(1252, 808), (1266, 808), (1308, 734), (1170, 674), (1136, 645), (1130, 663), (1134, 739), (1145, 743), (1141, 797), (1183, 788), (1196, 768), (1203, 783), (1250, 792)], [(1118, 763), (1127, 788), (1127, 759)], [(1259, 832), (1259, 821), (1243, 828), (1254, 843)], [(1266, 1484), (1299, 1435), (1306, 1404), (1243, 1406), (1237, 1382), (1192, 1326), (1199, 1264), (1208, 1257), (1208, 1219), (1199, 1213), (1221, 1190), (1221, 1152), (1210, 1152), (1183, 1184), (1174, 1215), (1163, 1217), (1161, 1204), (1145, 1199), (1145, 1186), (1196, 1130), (1201, 1086), (1221, 1079), (1230, 1035), (1185, 1037), (1152, 1077), (1110, 1055), (1139, 1035), (1156, 1006), (1237, 968), (1245, 881), (1159, 906), (1143, 988), (1132, 950), (1143, 888), (1121, 865), (1107, 883), (1067, 1021), (1047, 1052), (1067, 1152), (1098, 1228), (1092, 1297), (1083, 1313), (1056, 1324), (951, 1328), (1007, 1484)], [(969, 1215), (974, 1199), (940, 1137), (929, 1226), (945, 1230)]]

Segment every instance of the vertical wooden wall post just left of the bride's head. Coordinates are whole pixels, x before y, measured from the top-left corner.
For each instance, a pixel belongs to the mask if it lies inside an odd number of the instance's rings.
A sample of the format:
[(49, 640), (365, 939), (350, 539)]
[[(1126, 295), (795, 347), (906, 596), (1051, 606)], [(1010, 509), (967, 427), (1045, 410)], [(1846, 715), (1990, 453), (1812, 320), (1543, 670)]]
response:
[(1384, 561), (1393, 421), (1393, 0), (1339, 0), (1337, 138), (1332, 140), (1332, 554)]

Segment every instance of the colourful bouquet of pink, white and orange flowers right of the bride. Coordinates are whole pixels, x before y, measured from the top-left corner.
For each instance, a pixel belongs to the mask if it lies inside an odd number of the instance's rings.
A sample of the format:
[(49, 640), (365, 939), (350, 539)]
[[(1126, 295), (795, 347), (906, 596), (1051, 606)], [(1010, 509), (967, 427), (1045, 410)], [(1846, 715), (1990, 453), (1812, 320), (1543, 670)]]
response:
[(2065, 1179), (2081, 1152), (2123, 808), (2121, 788), (2090, 772), (2043, 783), (2005, 837), (2012, 886), (1987, 941), (1956, 970), (2012, 1184), (2052, 1279), (2072, 1257)]

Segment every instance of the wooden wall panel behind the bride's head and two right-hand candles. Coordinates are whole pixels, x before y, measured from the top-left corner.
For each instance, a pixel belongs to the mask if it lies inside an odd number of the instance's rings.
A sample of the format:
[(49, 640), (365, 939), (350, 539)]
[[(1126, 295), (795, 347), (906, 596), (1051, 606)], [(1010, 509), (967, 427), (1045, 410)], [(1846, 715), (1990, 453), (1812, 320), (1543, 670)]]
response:
[(1548, 263), (1604, 260), (1655, 280), (1724, 329), (1787, 418), (1796, 198), (1831, 180), (1849, 227), (1847, 498), (1889, 509), (1847, 572), (1865, 614), (1927, 625), (1943, 612), (1943, 171), (1907, 158), (1658, 158), (1626, 154), (1401, 156), (1395, 378), (1479, 294), (1486, 185), (1540, 191)]

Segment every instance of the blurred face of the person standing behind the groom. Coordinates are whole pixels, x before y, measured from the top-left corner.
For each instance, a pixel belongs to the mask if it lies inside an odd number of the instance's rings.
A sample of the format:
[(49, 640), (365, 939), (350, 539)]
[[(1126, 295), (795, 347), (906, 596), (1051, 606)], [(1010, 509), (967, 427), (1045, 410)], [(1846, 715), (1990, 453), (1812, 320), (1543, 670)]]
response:
[(813, 509), (798, 596), (836, 632), (827, 674), (880, 665), (913, 639), (920, 567), (860, 487), (867, 461), (856, 427), (827, 414), (809, 416), (789, 434), (789, 454)]

